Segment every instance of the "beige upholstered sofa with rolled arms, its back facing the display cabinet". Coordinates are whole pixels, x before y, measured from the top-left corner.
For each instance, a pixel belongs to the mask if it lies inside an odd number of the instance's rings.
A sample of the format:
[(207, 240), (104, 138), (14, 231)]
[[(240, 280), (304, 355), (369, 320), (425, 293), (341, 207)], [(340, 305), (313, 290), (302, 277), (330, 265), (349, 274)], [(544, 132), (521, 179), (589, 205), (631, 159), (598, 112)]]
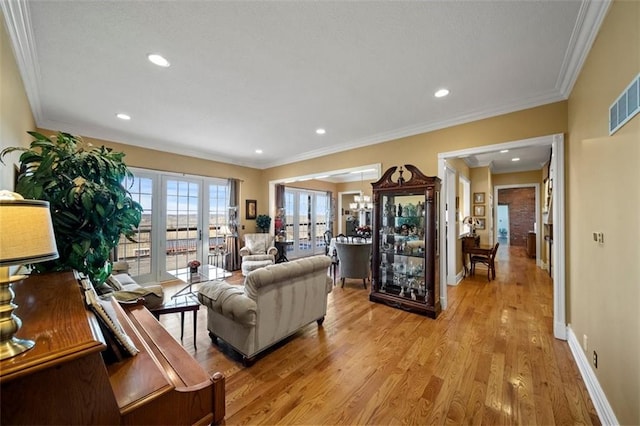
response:
[(333, 288), (330, 264), (327, 256), (306, 257), (251, 271), (243, 286), (203, 284), (198, 299), (207, 307), (211, 339), (224, 340), (250, 365), (257, 354), (301, 327), (313, 321), (321, 325)]

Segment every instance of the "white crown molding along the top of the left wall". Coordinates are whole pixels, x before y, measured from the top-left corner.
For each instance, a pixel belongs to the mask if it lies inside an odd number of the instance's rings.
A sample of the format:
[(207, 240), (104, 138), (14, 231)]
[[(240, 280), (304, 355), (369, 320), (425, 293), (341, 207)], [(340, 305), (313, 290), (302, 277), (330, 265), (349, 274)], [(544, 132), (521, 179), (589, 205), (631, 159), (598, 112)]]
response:
[(40, 68), (36, 59), (36, 47), (27, 0), (0, 0), (7, 32), (11, 38), (13, 53), (22, 76), (27, 98), (36, 124), (42, 122), (40, 103)]

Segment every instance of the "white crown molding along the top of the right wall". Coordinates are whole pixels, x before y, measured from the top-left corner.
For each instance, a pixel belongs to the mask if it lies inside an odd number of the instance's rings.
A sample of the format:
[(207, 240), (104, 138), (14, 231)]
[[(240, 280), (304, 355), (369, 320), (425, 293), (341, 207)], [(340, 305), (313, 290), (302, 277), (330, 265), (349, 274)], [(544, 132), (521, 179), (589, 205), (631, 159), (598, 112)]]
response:
[(587, 59), (600, 25), (609, 10), (611, 0), (583, 0), (562, 62), (556, 87), (565, 99), (569, 98), (582, 65)]

